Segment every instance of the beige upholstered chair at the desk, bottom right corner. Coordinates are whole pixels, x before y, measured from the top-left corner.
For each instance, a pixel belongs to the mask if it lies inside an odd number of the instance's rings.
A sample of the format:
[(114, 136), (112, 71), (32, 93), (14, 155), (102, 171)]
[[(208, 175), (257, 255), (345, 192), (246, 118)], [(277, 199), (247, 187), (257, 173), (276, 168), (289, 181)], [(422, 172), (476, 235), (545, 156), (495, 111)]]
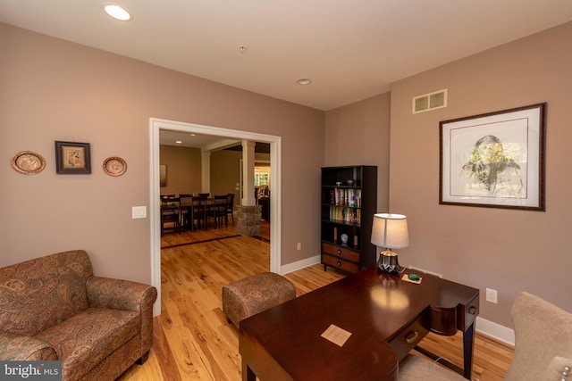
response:
[[(512, 306), (515, 352), (506, 381), (572, 381), (572, 314), (533, 294)], [(569, 376), (568, 376), (569, 374)], [(409, 354), (400, 361), (400, 380), (463, 380), (430, 360)]]

